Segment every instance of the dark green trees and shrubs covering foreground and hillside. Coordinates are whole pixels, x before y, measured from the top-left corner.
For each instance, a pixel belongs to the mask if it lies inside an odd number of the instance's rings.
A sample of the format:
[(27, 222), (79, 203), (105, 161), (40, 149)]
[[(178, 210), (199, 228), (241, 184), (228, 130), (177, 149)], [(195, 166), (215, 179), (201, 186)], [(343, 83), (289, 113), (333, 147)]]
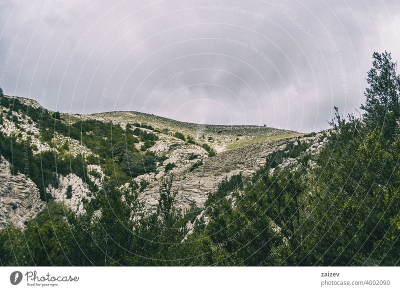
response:
[[(114, 131), (115, 125), (101, 121), (102, 130), (112, 127), (112, 136), (120, 134), (129, 142), (101, 138), (97, 148), (88, 139), (97, 121), (74, 122), (66, 128), (92, 150), (76, 158), (100, 161), (107, 175), (103, 188), (93, 190), (95, 199), (85, 204), (83, 213), (50, 201), (25, 229), (9, 225), (0, 230), (0, 263), (398, 265), (400, 76), (390, 54), (373, 54), (367, 81), (362, 118), (343, 118), (335, 108), (332, 129), (323, 135), (327, 141), (317, 155), (311, 156), (300, 139), (286, 143), (269, 154), (252, 176), (223, 179), (203, 207), (192, 204), (188, 211), (174, 203), (171, 163), (166, 163), (155, 211), (146, 213), (138, 199), (131, 177), (144, 168), (154, 169), (154, 160), (159, 163), (160, 158), (150, 151), (141, 154), (148, 156), (141, 168), (140, 151), (132, 144), (136, 139), (154, 141), (157, 132), (144, 137), (142, 129), (136, 131), (139, 134), (122, 128)], [(58, 119), (48, 120), (51, 128), (58, 124)], [(65, 133), (59, 124), (55, 130)], [(186, 139), (187, 133), (182, 135)], [(1, 155), (14, 158), (6, 148), (4, 143)], [(30, 158), (34, 162), (35, 157)], [(190, 161), (191, 166), (202, 166), (194, 154)], [(135, 170), (128, 172), (131, 165)], [(121, 188), (120, 180), (129, 183)]]

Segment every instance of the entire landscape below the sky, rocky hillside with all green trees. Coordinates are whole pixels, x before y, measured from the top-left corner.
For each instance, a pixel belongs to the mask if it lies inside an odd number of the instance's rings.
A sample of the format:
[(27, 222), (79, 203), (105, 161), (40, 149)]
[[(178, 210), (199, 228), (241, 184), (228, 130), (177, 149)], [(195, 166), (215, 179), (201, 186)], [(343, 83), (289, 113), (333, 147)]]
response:
[(0, 88), (0, 265), (396, 266), (400, 75), (330, 129), (64, 114)]

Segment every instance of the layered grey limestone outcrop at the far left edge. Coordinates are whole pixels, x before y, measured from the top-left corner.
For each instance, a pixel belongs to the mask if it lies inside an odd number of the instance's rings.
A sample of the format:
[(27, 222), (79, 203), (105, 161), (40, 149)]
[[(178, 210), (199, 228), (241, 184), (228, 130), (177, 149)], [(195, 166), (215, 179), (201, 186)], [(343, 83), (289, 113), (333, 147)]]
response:
[(0, 228), (10, 223), (24, 227), (44, 207), (39, 190), (24, 174), (12, 175), (9, 162), (0, 156)]

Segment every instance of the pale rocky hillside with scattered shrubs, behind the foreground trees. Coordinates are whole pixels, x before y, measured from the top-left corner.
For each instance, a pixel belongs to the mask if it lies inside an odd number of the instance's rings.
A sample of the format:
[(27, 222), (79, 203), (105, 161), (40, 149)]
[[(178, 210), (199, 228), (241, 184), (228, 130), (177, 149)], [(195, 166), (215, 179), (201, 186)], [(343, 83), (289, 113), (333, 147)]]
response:
[(293, 166), (298, 150), (312, 155), (326, 141), (323, 132), (194, 124), (139, 112), (64, 114), (13, 96), (3, 96), (0, 107), (0, 227), (23, 227), (46, 200), (82, 213), (87, 203), (95, 207), (110, 178), (132, 187), (152, 212), (161, 181), (172, 176), (176, 206), (201, 208), (225, 177), (251, 176), (276, 152), (282, 165)]

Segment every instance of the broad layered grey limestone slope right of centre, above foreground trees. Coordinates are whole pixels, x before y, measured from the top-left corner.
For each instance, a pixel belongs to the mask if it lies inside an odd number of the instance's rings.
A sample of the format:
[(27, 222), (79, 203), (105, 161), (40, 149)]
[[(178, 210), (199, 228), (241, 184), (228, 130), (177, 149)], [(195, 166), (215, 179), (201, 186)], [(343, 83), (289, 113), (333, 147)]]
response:
[[(216, 190), (223, 178), (229, 178), (239, 173), (243, 176), (250, 176), (265, 164), (267, 156), (297, 139), (306, 142), (310, 148), (308, 152), (315, 154), (317, 149), (314, 144), (317, 142), (319, 145), (318, 138), (319, 136), (292, 137), (253, 143), (225, 150), (211, 158), (202, 156), (203, 164), (192, 171), (188, 170), (189, 166), (178, 167), (173, 170), (174, 177), (171, 188), (171, 191), (176, 193), (176, 205), (187, 210), (190, 203), (194, 201), (198, 207), (202, 207), (207, 199), (207, 194)], [(291, 163), (295, 163), (295, 160), (286, 159), (286, 166)], [(139, 195), (139, 199), (144, 202), (147, 211), (153, 211), (157, 206), (160, 186), (160, 179), (157, 179), (155, 175), (150, 180), (151, 183)]]

